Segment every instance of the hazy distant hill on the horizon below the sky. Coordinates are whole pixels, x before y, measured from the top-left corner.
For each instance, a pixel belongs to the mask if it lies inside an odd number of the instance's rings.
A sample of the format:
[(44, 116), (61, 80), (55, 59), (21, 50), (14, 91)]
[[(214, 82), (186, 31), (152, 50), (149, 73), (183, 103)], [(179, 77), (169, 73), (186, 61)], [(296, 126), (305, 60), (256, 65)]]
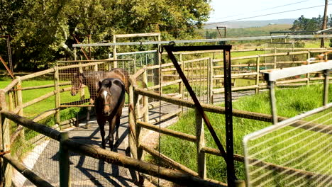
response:
[(226, 26), (226, 28), (253, 28), (263, 27), (269, 25), (292, 25), (295, 19), (277, 19), (277, 20), (262, 20), (262, 21), (231, 21), (226, 23), (206, 23), (206, 29), (216, 28), (216, 26)]

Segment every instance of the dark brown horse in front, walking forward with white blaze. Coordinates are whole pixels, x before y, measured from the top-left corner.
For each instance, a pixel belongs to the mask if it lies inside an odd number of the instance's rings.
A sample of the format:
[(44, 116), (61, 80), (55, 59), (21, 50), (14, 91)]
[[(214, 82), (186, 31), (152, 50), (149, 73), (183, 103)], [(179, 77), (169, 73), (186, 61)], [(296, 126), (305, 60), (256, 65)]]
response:
[(114, 130), (116, 130), (116, 141), (118, 140), (118, 127), (122, 108), (125, 102), (125, 84), (118, 77), (99, 81), (99, 89), (96, 96), (94, 108), (96, 119), (101, 133), (101, 146), (105, 149), (105, 130), (106, 121), (109, 122), (109, 147), (113, 150)]

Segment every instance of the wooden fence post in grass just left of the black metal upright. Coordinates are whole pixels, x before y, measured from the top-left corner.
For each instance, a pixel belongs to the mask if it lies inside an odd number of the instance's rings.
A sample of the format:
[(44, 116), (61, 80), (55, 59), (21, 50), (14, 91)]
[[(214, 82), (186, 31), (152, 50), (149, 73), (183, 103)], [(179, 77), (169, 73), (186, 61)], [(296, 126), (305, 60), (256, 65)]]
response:
[(206, 179), (205, 153), (201, 150), (205, 146), (203, 119), (199, 111), (195, 110), (196, 116), (196, 137), (197, 137), (197, 171), (202, 179)]

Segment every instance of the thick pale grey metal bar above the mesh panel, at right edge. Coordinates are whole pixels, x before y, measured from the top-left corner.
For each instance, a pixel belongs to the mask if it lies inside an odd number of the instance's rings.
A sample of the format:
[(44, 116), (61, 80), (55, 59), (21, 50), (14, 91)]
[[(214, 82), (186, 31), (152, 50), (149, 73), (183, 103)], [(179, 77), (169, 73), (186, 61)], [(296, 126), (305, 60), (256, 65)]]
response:
[(322, 71), (325, 69), (332, 69), (332, 60), (328, 62), (319, 62), (316, 64), (308, 64), (299, 67), (288, 67), (273, 72), (265, 73), (265, 81), (276, 81), (277, 79), (284, 79), (287, 77), (293, 77), (300, 74), (307, 74), (310, 72)]

